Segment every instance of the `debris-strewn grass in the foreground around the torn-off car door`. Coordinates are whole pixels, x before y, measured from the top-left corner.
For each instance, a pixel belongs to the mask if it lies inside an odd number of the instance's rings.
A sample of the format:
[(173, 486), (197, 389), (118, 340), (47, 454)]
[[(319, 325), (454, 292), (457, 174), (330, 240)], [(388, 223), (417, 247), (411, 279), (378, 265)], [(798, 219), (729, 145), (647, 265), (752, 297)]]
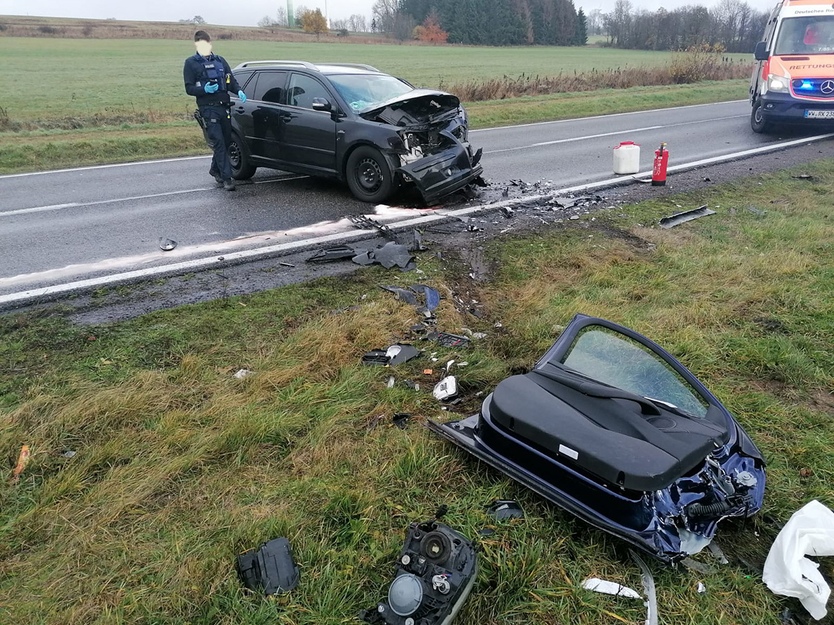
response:
[[(640, 587), (622, 542), (420, 427), (452, 416), (431, 397), (448, 360), (469, 363), (453, 368), (465, 403), (452, 410), (473, 413), (582, 312), (680, 358), (769, 463), (761, 514), (718, 532), (731, 565), (702, 575), (651, 563), (661, 622), (777, 625), (785, 605), (801, 607), (761, 583), (778, 531), (769, 519), (811, 498), (834, 505), (831, 193), (834, 163), (823, 161), (596, 212), (489, 243), (482, 283), (452, 252), (441, 264), (430, 250), (418, 264), (445, 295), (439, 327), (487, 334), (465, 351), (421, 344), (438, 363), (359, 365), (419, 318), (379, 289), (394, 280), (381, 270), (98, 327), (48, 310), (0, 318), (0, 454), (11, 467), (21, 445), (33, 451), (18, 484), (0, 480), (0, 613), (62, 625), (348, 622), (383, 596), (407, 523), (445, 503), (468, 535), (496, 530), (480, 539), (461, 622), (642, 622), (641, 602), (579, 588), (591, 576)], [(650, 226), (702, 203), (718, 214)], [(482, 303), (482, 318), (459, 312), (452, 293)], [(254, 374), (236, 380), (239, 368)], [(400, 430), (394, 413), (414, 418)], [(526, 518), (492, 525), (484, 506), (495, 498), (519, 499)], [(234, 554), (280, 535), (299, 587), (245, 596)], [(821, 566), (834, 572), (830, 559)]]

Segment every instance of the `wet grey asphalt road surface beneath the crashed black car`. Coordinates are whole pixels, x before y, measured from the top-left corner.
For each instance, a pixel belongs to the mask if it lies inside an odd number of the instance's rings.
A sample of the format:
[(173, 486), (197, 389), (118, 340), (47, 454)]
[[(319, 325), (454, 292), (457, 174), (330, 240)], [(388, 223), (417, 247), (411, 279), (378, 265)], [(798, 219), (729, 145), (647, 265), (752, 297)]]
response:
[[(473, 131), (470, 141), (484, 148), (493, 189), (512, 179), (565, 188), (612, 178), (611, 148), (620, 141), (642, 145), (643, 170), (661, 142), (671, 166), (779, 143), (751, 132), (749, 111), (747, 102), (724, 102), (491, 128)], [(346, 215), (395, 221), (415, 213), (359, 203), (336, 183), (263, 169), (227, 193), (208, 177), (208, 163), (186, 158), (0, 177), (0, 295), (349, 231)], [(160, 237), (178, 248), (162, 252)]]

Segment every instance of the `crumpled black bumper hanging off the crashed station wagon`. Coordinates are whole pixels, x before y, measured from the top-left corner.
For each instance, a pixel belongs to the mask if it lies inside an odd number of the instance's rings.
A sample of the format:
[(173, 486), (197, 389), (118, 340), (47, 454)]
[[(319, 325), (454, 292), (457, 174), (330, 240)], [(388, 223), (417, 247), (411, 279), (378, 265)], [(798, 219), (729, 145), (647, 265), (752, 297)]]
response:
[(458, 142), (443, 152), (420, 158), (396, 171), (414, 182), (425, 203), (430, 204), (478, 178), (484, 172), (479, 164), (480, 154), (480, 150), (470, 154), (470, 148)]

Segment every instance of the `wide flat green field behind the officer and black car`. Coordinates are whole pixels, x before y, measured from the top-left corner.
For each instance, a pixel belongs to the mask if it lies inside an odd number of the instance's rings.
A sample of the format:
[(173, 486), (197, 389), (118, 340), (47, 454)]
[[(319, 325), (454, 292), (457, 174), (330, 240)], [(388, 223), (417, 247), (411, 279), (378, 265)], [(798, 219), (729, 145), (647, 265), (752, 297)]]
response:
[[(252, 59), (364, 62), (416, 85), (470, 78), (555, 75), (610, 67), (665, 65), (670, 54), (594, 47), (427, 47), (351, 43), (215, 42), (234, 67)], [(0, 58), (13, 89), (0, 106), (13, 119), (115, 116), (119, 112), (190, 112), (183, 61), (191, 42), (136, 39), (0, 37)], [(71, 77), (56, 59), (72, 59)], [(26, 100), (20, 99), (25, 94)]]

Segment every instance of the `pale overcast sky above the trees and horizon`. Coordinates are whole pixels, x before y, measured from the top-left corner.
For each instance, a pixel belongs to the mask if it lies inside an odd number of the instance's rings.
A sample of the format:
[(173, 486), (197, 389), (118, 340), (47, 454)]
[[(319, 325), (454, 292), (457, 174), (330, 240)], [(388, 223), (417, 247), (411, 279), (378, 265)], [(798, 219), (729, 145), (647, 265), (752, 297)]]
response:
[[(324, 11), (325, 0), (294, 0), (295, 6), (320, 7)], [(600, 8), (609, 11), (615, 0), (574, 0), (576, 7), (585, 12)], [(757, 9), (771, 8), (774, 0), (748, 0)], [(698, 0), (632, 0), (635, 6), (648, 9), (674, 8), (696, 4)], [(703, 3), (711, 5), (712, 0)], [(117, 18), (176, 22), (192, 18), (195, 14), (212, 24), (254, 26), (264, 15), (274, 15), (278, 2), (274, 0), (0, 0), (0, 14), (38, 15), (53, 18)], [(351, 13), (370, 15), (374, 0), (327, 0), (330, 18), (346, 18)]]

